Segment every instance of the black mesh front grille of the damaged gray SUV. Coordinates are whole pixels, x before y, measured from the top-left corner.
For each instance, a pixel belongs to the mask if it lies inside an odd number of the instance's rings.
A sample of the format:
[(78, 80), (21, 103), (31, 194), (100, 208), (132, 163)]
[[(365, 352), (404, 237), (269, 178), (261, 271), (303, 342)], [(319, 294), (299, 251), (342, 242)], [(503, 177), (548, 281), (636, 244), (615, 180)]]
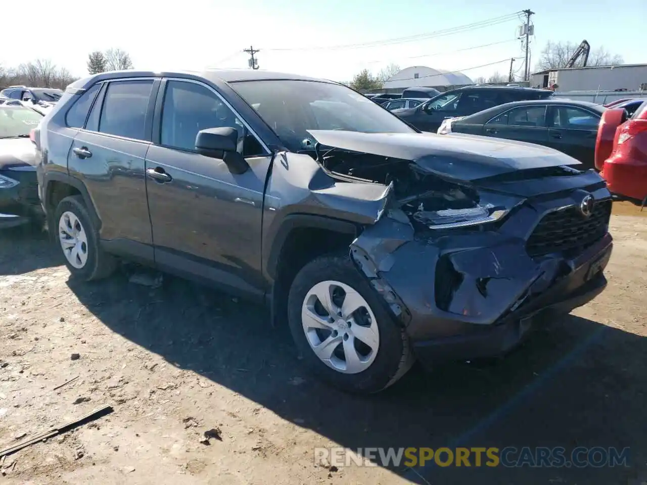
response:
[(580, 253), (606, 234), (610, 216), (611, 200), (596, 202), (590, 217), (577, 207), (549, 212), (534, 228), (526, 250), (531, 256)]

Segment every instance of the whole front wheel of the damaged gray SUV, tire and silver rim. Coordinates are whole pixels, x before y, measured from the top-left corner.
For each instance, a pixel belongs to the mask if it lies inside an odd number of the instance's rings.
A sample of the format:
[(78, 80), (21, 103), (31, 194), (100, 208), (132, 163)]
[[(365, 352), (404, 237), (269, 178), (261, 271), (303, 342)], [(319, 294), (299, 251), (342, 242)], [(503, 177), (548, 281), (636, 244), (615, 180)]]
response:
[(404, 329), (348, 255), (303, 266), (290, 288), (288, 320), (305, 363), (344, 391), (382, 391), (413, 363)]

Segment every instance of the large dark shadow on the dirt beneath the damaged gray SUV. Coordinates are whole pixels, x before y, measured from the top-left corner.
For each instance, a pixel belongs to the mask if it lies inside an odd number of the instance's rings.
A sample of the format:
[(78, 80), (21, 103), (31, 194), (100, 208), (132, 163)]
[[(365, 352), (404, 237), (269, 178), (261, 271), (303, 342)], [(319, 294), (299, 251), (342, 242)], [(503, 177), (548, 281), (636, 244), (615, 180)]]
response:
[[(264, 308), (167, 276), (155, 290), (127, 283), (124, 274), (68, 285), (110, 329), (313, 429), (322, 446), (328, 440), (353, 450), (629, 446), (631, 463), (646, 461), (646, 339), (595, 321), (567, 316), (536, 330), (505, 360), (444, 365), (431, 374), (415, 367), (383, 393), (353, 396), (311, 378), (297, 361), (287, 325), (271, 327)], [(610, 484), (637, 473), (433, 464), (389, 469), (426, 485), (436, 477), (456, 484)]]

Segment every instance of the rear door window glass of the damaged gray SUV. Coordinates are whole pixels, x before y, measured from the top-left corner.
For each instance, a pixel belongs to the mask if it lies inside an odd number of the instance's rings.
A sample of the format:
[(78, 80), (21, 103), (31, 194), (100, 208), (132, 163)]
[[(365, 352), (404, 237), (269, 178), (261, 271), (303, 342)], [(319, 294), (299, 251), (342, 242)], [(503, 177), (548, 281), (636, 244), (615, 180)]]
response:
[(99, 131), (134, 140), (146, 139), (146, 111), (153, 80), (115, 81), (108, 85)]

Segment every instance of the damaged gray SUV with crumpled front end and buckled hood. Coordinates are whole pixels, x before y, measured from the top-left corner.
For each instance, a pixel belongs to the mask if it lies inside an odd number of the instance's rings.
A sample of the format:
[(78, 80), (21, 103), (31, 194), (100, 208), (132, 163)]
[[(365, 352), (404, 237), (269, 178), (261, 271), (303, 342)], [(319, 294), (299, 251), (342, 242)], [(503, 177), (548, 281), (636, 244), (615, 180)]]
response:
[(541, 146), (419, 133), (331, 81), (104, 72), (70, 85), (34, 138), (74, 277), (124, 257), (265, 301), (347, 391), (415, 360), (503, 354), (606, 286), (597, 173)]

